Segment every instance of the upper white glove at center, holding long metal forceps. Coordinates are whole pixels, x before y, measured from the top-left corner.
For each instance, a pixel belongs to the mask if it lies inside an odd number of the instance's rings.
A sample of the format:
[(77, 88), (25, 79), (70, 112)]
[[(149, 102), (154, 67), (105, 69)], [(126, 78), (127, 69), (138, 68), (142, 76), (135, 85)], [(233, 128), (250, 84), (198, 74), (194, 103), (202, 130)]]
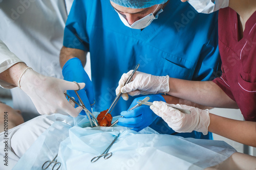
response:
[(133, 70), (123, 74), (119, 80), (118, 87), (116, 88), (116, 95), (122, 94), (124, 100), (128, 100), (127, 93), (131, 96), (139, 94), (158, 94), (169, 91), (169, 76), (153, 76), (144, 72), (136, 71), (130, 83), (127, 81)]

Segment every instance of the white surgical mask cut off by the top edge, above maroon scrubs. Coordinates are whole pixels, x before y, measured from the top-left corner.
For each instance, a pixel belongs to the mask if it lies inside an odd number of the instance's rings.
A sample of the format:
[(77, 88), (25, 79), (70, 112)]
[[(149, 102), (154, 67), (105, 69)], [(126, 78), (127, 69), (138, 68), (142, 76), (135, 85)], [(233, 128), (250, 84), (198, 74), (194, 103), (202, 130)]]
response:
[(209, 14), (221, 8), (228, 7), (229, 0), (188, 0), (191, 6), (199, 13)]

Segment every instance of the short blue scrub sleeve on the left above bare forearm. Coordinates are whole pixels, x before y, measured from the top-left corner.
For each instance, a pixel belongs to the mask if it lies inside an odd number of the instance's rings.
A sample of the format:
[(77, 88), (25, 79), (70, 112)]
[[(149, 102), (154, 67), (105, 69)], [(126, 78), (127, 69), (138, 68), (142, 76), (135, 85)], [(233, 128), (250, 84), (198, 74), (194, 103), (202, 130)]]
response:
[(64, 30), (63, 46), (89, 52), (86, 33), (86, 10), (83, 1), (74, 1)]

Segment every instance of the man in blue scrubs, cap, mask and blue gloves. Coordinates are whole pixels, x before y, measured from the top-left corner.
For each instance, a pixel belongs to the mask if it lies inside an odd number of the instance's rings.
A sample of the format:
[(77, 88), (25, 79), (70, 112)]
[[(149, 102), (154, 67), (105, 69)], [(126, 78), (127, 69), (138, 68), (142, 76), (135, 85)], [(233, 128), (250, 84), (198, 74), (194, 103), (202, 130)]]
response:
[[(179, 0), (75, 0), (60, 52), (63, 77), (86, 83), (79, 94), (86, 107), (92, 106), (94, 111), (110, 107), (122, 74), (137, 63), (138, 70), (147, 74), (196, 81), (214, 79), (221, 64), (217, 19), (218, 13), (199, 14)], [(92, 81), (83, 69), (88, 52)], [(175, 133), (149, 106), (126, 111), (144, 98), (119, 100), (111, 113), (124, 116), (119, 125), (136, 131), (150, 126), (159, 133), (212, 138), (211, 133)], [(150, 98), (180, 103), (164, 94)]]

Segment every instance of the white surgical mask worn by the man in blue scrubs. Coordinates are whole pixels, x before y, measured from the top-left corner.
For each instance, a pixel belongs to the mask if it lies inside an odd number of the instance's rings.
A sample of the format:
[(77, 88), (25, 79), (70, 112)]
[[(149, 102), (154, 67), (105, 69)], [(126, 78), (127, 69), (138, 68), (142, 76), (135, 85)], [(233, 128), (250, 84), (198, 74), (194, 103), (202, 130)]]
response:
[[(159, 6), (159, 5), (158, 5)], [(156, 10), (158, 9), (158, 6), (156, 8)], [(156, 10), (153, 12), (155, 13)], [(145, 17), (135, 21), (132, 25), (129, 24), (129, 22), (123, 17), (122, 14), (120, 14), (117, 10), (115, 10), (118, 15), (119, 15), (119, 18), (121, 19), (121, 21), (124, 23), (125, 26), (127, 27), (130, 27), (132, 29), (144, 29), (146, 28), (147, 26), (149, 26), (151, 24), (151, 22), (154, 20), (154, 19), (157, 19), (158, 18), (158, 15), (163, 12), (163, 9), (160, 9), (157, 13), (156, 13), (156, 16), (154, 16), (153, 13), (150, 13), (148, 15), (146, 15)]]

